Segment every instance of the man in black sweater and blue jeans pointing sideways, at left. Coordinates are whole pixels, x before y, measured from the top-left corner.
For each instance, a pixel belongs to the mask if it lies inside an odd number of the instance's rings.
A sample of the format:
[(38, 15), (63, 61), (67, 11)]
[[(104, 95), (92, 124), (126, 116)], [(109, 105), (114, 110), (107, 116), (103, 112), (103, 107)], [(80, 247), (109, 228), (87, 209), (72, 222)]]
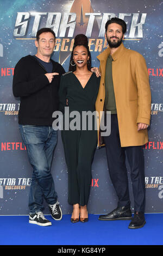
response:
[(57, 200), (51, 163), (57, 131), (52, 128), (52, 114), (58, 110), (58, 88), (64, 68), (51, 59), (55, 33), (42, 28), (36, 34), (35, 56), (21, 58), (15, 66), (13, 93), (20, 97), (18, 124), (26, 145), (33, 177), (29, 195), (29, 223), (52, 225), (43, 216), (43, 198), (49, 205), (54, 220), (61, 220), (62, 212)]

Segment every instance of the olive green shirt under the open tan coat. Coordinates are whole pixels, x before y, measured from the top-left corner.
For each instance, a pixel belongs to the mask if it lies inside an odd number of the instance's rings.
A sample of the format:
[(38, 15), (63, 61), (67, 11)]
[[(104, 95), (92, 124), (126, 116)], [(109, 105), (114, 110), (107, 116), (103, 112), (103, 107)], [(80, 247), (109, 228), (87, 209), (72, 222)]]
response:
[(114, 95), (114, 86), (112, 81), (112, 57), (109, 55), (105, 69), (105, 111), (111, 111), (111, 114), (116, 114), (116, 101)]

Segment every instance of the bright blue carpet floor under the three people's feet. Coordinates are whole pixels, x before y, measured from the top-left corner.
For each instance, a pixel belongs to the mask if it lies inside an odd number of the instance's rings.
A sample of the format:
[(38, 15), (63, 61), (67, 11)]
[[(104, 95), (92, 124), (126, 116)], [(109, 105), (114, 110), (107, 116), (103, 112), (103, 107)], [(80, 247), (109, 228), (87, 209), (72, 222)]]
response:
[(0, 245), (163, 245), (163, 214), (146, 214), (143, 228), (128, 229), (130, 221), (71, 223), (71, 215), (52, 226), (29, 224), (28, 216), (0, 216)]

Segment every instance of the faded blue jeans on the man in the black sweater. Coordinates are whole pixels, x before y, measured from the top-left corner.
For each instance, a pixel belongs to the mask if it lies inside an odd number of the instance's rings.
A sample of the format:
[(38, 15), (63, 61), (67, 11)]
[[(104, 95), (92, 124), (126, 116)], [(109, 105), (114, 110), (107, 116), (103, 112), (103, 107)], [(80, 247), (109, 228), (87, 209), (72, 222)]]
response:
[(57, 131), (54, 131), (52, 126), (36, 125), (19, 125), (19, 129), (33, 167), (29, 210), (30, 214), (34, 214), (43, 210), (43, 198), (48, 204), (57, 202), (57, 193), (51, 174)]

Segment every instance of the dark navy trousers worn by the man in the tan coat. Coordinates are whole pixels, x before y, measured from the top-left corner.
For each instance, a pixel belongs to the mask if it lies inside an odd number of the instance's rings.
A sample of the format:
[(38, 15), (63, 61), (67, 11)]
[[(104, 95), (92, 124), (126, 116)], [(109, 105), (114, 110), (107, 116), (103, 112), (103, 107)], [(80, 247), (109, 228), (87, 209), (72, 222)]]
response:
[(118, 120), (111, 114), (111, 134), (104, 137), (106, 156), (112, 184), (118, 196), (118, 207), (130, 205), (126, 156), (134, 194), (135, 211), (145, 211), (145, 174), (142, 146), (121, 147)]

